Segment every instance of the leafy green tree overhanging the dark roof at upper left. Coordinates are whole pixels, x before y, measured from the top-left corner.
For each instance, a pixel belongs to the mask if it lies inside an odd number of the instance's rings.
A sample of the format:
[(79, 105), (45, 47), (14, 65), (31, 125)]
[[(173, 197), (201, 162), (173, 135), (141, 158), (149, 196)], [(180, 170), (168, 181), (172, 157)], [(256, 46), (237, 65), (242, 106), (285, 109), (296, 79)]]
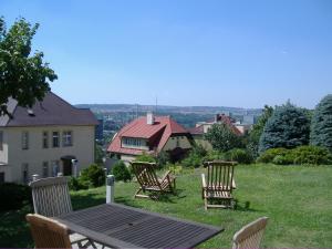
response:
[(30, 55), (38, 27), (21, 18), (7, 30), (3, 18), (0, 18), (0, 115), (11, 116), (7, 108), (10, 97), (23, 107), (42, 101), (50, 91), (49, 81), (58, 79), (49, 64), (43, 62), (42, 52)]

